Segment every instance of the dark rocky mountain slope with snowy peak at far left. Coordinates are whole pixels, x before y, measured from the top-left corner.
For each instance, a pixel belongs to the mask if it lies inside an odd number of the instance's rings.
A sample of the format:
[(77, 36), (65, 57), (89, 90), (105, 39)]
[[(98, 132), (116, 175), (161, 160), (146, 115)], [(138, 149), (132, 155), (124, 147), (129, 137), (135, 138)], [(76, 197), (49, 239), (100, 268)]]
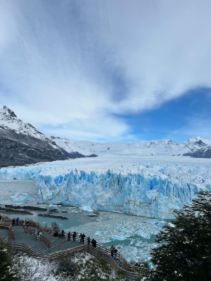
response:
[(0, 167), (76, 157), (85, 155), (68, 153), (34, 126), (18, 119), (8, 107), (0, 109)]

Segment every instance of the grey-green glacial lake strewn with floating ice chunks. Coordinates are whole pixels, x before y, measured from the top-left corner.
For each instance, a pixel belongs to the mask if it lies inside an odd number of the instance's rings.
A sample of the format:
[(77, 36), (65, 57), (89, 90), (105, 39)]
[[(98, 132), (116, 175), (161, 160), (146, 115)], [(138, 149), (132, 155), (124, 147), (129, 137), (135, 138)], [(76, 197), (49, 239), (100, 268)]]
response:
[[(150, 249), (158, 246), (155, 242), (155, 235), (162, 229), (162, 226), (159, 226), (158, 223), (164, 220), (101, 211), (98, 216), (89, 217), (89, 212), (82, 211), (77, 207), (37, 204), (37, 191), (38, 189), (33, 180), (0, 180), (0, 206), (4, 207), (5, 204), (12, 204), (38, 206), (47, 209), (55, 208), (59, 213), (53, 214), (65, 216), (69, 219), (59, 220), (40, 217), (38, 214), (46, 212), (31, 210), (29, 211), (33, 215), (5, 214), (10, 218), (19, 217), (20, 219), (28, 218), (29, 220), (38, 221), (43, 226), (51, 225), (53, 221), (56, 221), (60, 225), (60, 229), (85, 233), (86, 236), (95, 238), (99, 243), (108, 247), (115, 245), (128, 261), (149, 260)], [(28, 196), (34, 199), (14, 203), (11, 196), (18, 192), (27, 193)], [(61, 213), (63, 210), (67, 211), (67, 213)]]

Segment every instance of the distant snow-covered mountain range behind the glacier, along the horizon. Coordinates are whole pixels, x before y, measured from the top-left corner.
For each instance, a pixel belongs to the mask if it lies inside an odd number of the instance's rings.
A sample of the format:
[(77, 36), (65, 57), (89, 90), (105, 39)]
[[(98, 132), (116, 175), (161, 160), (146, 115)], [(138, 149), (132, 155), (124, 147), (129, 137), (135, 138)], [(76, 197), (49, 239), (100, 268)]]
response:
[[(69, 153), (78, 151), (79, 153), (90, 154), (119, 154), (119, 155), (176, 155), (202, 157), (196, 151), (206, 149), (211, 145), (211, 141), (202, 137), (191, 137), (188, 141), (178, 144), (176, 141), (147, 141), (147, 142), (105, 142), (97, 143), (90, 141), (72, 141), (60, 137), (51, 137), (53, 141)], [(195, 154), (194, 154), (195, 153)], [(209, 155), (208, 155), (209, 156)], [(210, 156), (211, 157), (211, 156)], [(209, 158), (209, 157), (205, 157)]]

